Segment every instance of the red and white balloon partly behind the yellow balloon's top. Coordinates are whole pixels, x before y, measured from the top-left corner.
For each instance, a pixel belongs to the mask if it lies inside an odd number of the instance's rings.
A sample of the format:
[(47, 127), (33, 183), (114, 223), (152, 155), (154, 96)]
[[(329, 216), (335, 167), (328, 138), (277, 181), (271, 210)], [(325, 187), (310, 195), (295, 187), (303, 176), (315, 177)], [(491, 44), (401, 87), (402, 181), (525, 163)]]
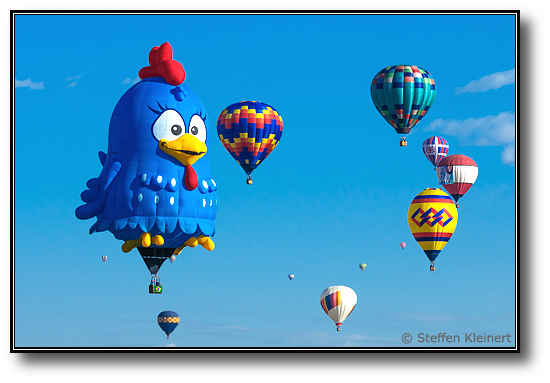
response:
[(456, 207), (458, 207), (458, 199), (476, 182), (477, 172), (475, 161), (462, 154), (452, 154), (439, 161), (437, 165), (439, 184), (453, 196)]

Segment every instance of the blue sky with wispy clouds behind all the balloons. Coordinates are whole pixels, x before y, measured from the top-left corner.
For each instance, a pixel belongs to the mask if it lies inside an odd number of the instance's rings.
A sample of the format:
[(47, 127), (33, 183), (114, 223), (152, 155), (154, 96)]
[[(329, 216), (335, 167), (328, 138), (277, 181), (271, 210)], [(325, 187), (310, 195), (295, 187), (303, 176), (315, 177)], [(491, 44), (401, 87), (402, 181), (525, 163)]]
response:
[[(165, 292), (150, 295), (137, 251), (89, 235), (74, 209), (116, 102), (166, 41), (210, 129), (252, 99), (280, 112), (284, 132), (252, 186), (210, 142), (216, 249), (165, 263)], [(515, 345), (514, 15), (16, 15), (14, 55), (16, 347)], [(430, 71), (437, 97), (400, 147), (369, 87), (409, 63)], [(421, 148), (432, 135), (479, 167), (436, 272), (406, 217), (438, 186)], [(319, 304), (337, 284), (358, 296), (340, 332)], [(163, 310), (181, 316), (170, 340)], [(463, 341), (419, 342), (440, 332)], [(464, 343), (471, 332), (512, 342)]]

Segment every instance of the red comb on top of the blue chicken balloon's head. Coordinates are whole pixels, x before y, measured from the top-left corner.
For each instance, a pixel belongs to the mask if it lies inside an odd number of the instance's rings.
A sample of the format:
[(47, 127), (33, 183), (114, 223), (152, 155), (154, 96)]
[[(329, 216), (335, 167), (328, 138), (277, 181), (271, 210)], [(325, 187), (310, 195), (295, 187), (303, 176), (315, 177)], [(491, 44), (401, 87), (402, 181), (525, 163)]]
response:
[(171, 85), (180, 85), (185, 80), (185, 69), (176, 60), (172, 60), (172, 46), (164, 43), (149, 52), (149, 66), (139, 70), (139, 78), (164, 77)]

